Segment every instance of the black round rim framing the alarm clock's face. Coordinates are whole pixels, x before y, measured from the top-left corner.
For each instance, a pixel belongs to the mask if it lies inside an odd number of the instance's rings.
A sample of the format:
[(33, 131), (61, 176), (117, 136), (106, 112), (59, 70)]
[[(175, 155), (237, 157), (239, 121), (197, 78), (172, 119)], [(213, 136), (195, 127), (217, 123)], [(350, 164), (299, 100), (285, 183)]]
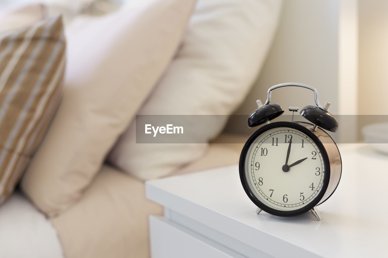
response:
[[(271, 207), (265, 205), (260, 200), (258, 200), (258, 198), (256, 198), (256, 196), (251, 192), (251, 189), (249, 189), (248, 182), (247, 182), (246, 177), (245, 177), (245, 171), (244, 171), (245, 158), (246, 158), (249, 146), (251, 146), (253, 141), (255, 141), (255, 139), (258, 136), (260, 136), (263, 132), (268, 131), (270, 129), (277, 128), (277, 127), (288, 127), (288, 128), (296, 129), (296, 130), (299, 130), (299, 131), (305, 133), (308, 137), (310, 137), (310, 139), (312, 139), (314, 141), (315, 144), (317, 144), (317, 146), (322, 154), (322, 158), (323, 158), (323, 162), (324, 162), (324, 166), (325, 166), (325, 176), (324, 176), (321, 190), (320, 190), (319, 194), (314, 198), (313, 201), (311, 201), (308, 205), (306, 205), (298, 210), (291, 210), (291, 211), (275, 210), (274, 208), (271, 208)], [(251, 134), (251, 136), (249, 136), (248, 140), (244, 144), (244, 147), (242, 148), (242, 151), (241, 151), (240, 161), (239, 161), (239, 172), (240, 172), (240, 180), (241, 180), (242, 187), (244, 188), (244, 191), (248, 195), (249, 199), (251, 199), (251, 201), (253, 203), (255, 203), (256, 206), (258, 206), (263, 211), (268, 212), (272, 215), (281, 216), (281, 217), (291, 217), (291, 216), (296, 216), (296, 215), (300, 215), (300, 214), (303, 214), (305, 212), (308, 212), (309, 210), (314, 208), (314, 206), (316, 206), (320, 200), (322, 200), (324, 194), (326, 193), (327, 186), (329, 184), (330, 163), (329, 163), (329, 157), (327, 155), (326, 149), (324, 148), (323, 144), (318, 139), (318, 137), (315, 136), (315, 134), (313, 134), (306, 127), (298, 124), (298, 122), (281, 121), (281, 122), (273, 122), (270, 124), (266, 124), (266, 125), (260, 127), (259, 129), (257, 129), (255, 132), (253, 132), (253, 134)]]

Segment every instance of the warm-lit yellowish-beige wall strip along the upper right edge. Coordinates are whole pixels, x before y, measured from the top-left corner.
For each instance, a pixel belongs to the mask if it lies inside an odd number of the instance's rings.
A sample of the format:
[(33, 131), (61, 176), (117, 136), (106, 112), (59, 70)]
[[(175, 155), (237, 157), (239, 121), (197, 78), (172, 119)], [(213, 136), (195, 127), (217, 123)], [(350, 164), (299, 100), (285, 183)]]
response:
[(388, 115), (388, 1), (359, 0), (359, 114)]

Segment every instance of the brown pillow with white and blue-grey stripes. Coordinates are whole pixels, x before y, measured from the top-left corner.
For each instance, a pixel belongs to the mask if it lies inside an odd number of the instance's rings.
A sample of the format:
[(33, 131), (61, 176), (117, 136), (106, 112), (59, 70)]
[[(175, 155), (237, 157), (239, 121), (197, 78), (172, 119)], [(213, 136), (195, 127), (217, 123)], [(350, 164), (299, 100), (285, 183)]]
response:
[(62, 94), (62, 17), (0, 34), (0, 204), (12, 193)]

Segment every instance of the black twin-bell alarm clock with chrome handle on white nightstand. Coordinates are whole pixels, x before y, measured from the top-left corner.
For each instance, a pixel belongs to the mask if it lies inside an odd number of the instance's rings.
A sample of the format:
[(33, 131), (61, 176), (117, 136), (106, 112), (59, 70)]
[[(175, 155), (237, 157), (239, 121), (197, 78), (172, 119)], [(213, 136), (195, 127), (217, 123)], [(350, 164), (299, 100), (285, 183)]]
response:
[[(314, 91), (315, 105), (302, 108), (300, 114), (308, 122), (294, 122), (298, 107), (289, 107), (291, 121), (270, 122), (284, 112), (272, 103), (271, 91), (296, 86)], [(336, 132), (338, 120), (322, 107), (318, 91), (301, 83), (282, 83), (268, 89), (264, 105), (248, 117), (248, 126), (257, 129), (241, 151), (239, 172), (242, 187), (251, 201), (262, 210), (276, 216), (290, 217), (309, 210), (321, 219), (317, 205), (326, 201), (336, 190), (341, 178), (340, 151), (327, 131)]]

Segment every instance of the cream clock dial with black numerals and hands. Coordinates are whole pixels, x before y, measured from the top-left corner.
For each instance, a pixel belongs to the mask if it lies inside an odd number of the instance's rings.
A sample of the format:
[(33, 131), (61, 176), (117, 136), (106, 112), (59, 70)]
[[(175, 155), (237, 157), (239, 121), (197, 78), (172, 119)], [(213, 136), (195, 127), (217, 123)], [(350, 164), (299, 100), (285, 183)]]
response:
[(258, 200), (275, 210), (298, 210), (311, 203), (322, 189), (324, 175), (317, 144), (289, 127), (260, 134), (245, 158), (248, 187)]

